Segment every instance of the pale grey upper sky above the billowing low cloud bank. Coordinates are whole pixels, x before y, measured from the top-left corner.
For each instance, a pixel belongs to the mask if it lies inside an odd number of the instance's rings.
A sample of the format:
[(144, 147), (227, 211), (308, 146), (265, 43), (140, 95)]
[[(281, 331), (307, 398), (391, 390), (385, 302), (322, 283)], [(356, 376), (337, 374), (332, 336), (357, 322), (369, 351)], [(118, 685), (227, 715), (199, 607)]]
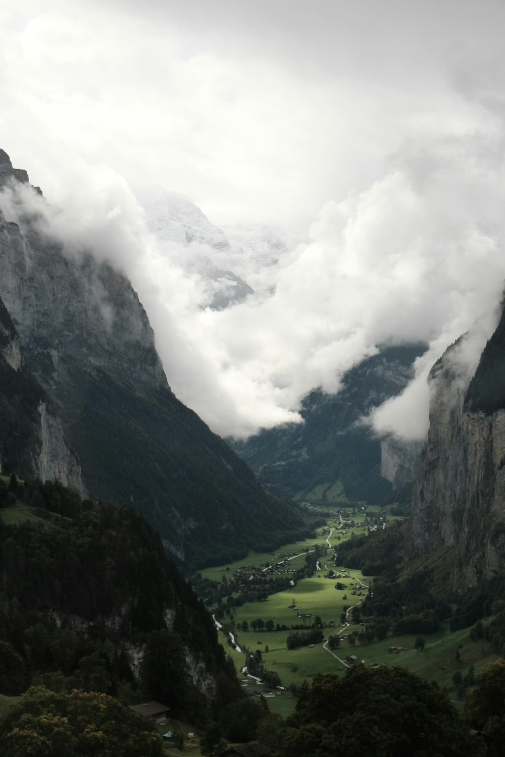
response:
[(18, 164), (42, 182), (59, 145), (217, 223), (307, 225), (412, 134), (475, 123), (454, 83), (503, 62), (489, 0), (5, 0), (0, 20)]

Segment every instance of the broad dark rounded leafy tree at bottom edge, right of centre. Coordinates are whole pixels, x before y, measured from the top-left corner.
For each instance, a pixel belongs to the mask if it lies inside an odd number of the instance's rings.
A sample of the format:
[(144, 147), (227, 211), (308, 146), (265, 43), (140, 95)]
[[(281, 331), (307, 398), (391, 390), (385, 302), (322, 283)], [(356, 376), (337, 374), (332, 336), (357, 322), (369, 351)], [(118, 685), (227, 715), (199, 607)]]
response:
[[(363, 724), (363, 727), (357, 727)], [(447, 695), (400, 667), (363, 665), (344, 678), (318, 674), (298, 690), (274, 757), (482, 757)]]

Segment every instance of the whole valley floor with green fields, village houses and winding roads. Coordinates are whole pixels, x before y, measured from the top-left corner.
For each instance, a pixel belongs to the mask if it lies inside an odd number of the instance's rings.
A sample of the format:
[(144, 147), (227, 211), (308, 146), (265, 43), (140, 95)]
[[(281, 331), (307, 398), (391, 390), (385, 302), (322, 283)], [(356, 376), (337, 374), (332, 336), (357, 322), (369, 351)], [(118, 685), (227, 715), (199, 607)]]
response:
[[(201, 585), (201, 576), (203, 581), (214, 581), (221, 587), (230, 588), (230, 592), (226, 593), (225, 589), (220, 600), (212, 603), (209, 609), (222, 626), (220, 642), (232, 656), (242, 686), (248, 693), (263, 693), (270, 710), (285, 717), (295, 709), (295, 694), (303, 681), (311, 681), (321, 673), (342, 676), (352, 665), (346, 662), (346, 658), (355, 656), (366, 667), (402, 665), (433, 686), (446, 688), (454, 702), (463, 706), (463, 699), (457, 696), (454, 676), (456, 680), (458, 674), (464, 678), (471, 666), (476, 675), (497, 659), (489, 641), (485, 638), (472, 640), (469, 628), (451, 631), (448, 619), (441, 621), (437, 631), (424, 635), (425, 646), (421, 650), (415, 647), (417, 634), (388, 632), (381, 640), (366, 641), (363, 638), (366, 625), (361, 620), (354, 622), (352, 611), (354, 607), (360, 607), (368, 587), (373, 590), (374, 577), (363, 576), (360, 569), (349, 568), (345, 563), (334, 565), (333, 549), (338, 550), (339, 544), (366, 534), (364, 523), (371, 523), (373, 527), (379, 522), (385, 528), (391, 528), (404, 519), (391, 515), (391, 506), (366, 506), (366, 516), (360, 516), (356, 507), (345, 504), (329, 509), (326, 502), (325, 510), (328, 516), (326, 525), (317, 529), (315, 540), (287, 544), (271, 553), (253, 552), (247, 559), (204, 569), (195, 579), (197, 587)], [(312, 571), (307, 569), (307, 559), (316, 553), (316, 565), (320, 565), (320, 569)], [(311, 563), (314, 564), (313, 560)], [(334, 574), (332, 578), (328, 578), (330, 572)], [(263, 581), (268, 580), (267, 576), (272, 580), (287, 578), (295, 585), (237, 606), (242, 592), (242, 589), (237, 590), (237, 579), (243, 586), (261, 581), (261, 576)], [(341, 588), (335, 588), (337, 582)], [(345, 625), (342, 622), (344, 613)], [(489, 620), (491, 618), (485, 618), (484, 622)], [(308, 631), (315, 623), (320, 624), (322, 640), (288, 649), (286, 642), (290, 634)], [(235, 645), (229, 638), (230, 633)], [(335, 636), (340, 641), (338, 646), (332, 647), (330, 637)], [(269, 686), (263, 677), (257, 682), (254, 678), (247, 678), (243, 671), (248, 656), (253, 660), (252, 671), (259, 660), (265, 670), (279, 677), (279, 683)], [(273, 680), (275, 683), (276, 679)]]

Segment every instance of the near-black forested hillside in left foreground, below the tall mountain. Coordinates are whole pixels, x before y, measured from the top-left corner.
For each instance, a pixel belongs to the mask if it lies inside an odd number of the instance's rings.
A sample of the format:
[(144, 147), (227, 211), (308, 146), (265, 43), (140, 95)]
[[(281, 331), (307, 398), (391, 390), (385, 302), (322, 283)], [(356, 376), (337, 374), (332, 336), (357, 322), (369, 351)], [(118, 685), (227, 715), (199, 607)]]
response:
[(127, 703), (147, 696), (179, 716), (209, 715), (211, 699), (236, 696), (212, 618), (141, 516), (49, 482), (13, 476), (8, 489), (0, 693), (48, 684)]

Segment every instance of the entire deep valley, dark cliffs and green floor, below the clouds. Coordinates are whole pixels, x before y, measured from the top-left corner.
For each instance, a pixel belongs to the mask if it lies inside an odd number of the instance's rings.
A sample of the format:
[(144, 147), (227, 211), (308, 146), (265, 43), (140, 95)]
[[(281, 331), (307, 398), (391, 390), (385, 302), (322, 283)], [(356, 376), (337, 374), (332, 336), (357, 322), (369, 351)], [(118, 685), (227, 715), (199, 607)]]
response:
[[(335, 394), (313, 385), (302, 422), (224, 441), (173, 394), (126, 275), (14, 212), (45, 201), (3, 151), (0, 168), (0, 751), (25, 709), (37, 733), (55, 708), (93, 729), (106, 697), (136, 740), (125, 757), (164, 747), (165, 723), (129, 709), (142, 700), (205, 757), (256, 739), (275, 757), (367, 757), (376, 737), (348, 752), (348, 721), (374, 715), (382, 744), (394, 727), (403, 744), (426, 702), (423, 732), (459, 729), (458, 757), (480, 754), (469, 724), (496, 721), (467, 713), (505, 652), (505, 315), (479, 366), (463, 335), (432, 367), (427, 444), (370, 426), (414, 380), (417, 338), (378, 341)], [(204, 317), (238, 307), (214, 300)], [(86, 728), (65, 736), (83, 755)]]

